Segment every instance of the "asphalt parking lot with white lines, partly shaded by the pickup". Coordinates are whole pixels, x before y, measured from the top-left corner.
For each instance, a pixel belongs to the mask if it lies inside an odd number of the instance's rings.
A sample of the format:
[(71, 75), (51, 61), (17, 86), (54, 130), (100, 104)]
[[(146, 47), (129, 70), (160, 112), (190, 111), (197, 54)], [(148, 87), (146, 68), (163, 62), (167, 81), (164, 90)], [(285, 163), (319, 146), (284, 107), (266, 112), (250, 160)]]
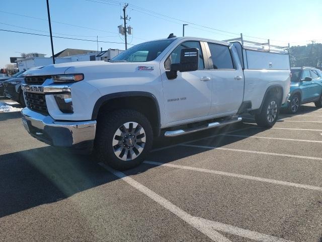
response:
[(1, 241), (322, 241), (322, 109), (160, 138), (118, 172), (0, 113)]

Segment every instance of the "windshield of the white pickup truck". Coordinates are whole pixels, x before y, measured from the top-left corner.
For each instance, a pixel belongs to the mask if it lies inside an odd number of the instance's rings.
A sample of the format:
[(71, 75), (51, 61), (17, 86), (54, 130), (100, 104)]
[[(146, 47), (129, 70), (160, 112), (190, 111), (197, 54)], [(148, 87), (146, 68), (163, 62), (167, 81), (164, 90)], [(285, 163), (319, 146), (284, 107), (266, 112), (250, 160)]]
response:
[(174, 39), (137, 44), (115, 56), (110, 62), (150, 62), (165, 50)]

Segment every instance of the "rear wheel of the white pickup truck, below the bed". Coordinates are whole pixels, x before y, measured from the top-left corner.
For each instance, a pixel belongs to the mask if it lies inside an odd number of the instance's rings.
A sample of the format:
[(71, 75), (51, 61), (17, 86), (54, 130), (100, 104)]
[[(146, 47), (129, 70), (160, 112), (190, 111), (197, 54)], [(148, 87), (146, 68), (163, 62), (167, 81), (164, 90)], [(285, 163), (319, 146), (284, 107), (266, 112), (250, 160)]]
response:
[(255, 115), (255, 120), (258, 126), (271, 128), (276, 123), (280, 111), (279, 100), (276, 96), (268, 96), (263, 104), (260, 113)]

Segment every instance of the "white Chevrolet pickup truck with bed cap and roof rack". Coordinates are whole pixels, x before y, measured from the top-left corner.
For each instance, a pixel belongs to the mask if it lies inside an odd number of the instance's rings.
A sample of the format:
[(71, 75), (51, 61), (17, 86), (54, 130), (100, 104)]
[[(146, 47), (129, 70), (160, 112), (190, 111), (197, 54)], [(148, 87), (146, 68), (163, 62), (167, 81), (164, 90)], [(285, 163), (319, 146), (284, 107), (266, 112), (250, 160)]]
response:
[(243, 112), (272, 127), (290, 88), (286, 50), (172, 35), (110, 62), (49, 65), (24, 76), (30, 135), (93, 151), (120, 170), (140, 164), (160, 135), (236, 123)]

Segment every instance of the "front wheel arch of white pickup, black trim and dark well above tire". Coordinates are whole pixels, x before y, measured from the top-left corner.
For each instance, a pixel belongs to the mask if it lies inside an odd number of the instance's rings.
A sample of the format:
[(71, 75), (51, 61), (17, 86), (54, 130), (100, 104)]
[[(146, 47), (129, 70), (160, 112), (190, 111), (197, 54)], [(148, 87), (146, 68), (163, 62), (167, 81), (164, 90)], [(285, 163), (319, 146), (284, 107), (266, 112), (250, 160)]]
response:
[(96, 120), (100, 112), (120, 108), (137, 110), (149, 119), (154, 136), (160, 134), (160, 109), (155, 96), (149, 92), (130, 91), (107, 94), (100, 97), (93, 108), (92, 119)]

